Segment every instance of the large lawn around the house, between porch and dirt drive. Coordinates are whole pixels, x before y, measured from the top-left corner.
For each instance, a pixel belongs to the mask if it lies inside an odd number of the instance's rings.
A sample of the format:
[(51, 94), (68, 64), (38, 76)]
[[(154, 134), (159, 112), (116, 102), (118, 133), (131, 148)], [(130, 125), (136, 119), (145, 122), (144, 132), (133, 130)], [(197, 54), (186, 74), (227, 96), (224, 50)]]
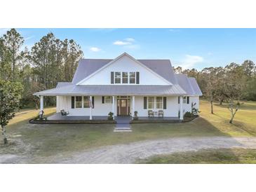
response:
[[(55, 112), (55, 108), (45, 109), (45, 114)], [(188, 123), (142, 123), (133, 124), (133, 132), (113, 132), (114, 125), (36, 125), (28, 120), (38, 111), (20, 111), (7, 126), (10, 141), (8, 146), (0, 142), (0, 155), (11, 153), (29, 156), (26, 162), (41, 163), (60, 154), (70, 154), (97, 146), (125, 144), (144, 139), (168, 137), (201, 136), (242, 136), (256, 135), (256, 102), (246, 102), (236, 114), (234, 124), (229, 123), (227, 105), (215, 104), (215, 114), (210, 114), (210, 104), (201, 101), (200, 117)]]

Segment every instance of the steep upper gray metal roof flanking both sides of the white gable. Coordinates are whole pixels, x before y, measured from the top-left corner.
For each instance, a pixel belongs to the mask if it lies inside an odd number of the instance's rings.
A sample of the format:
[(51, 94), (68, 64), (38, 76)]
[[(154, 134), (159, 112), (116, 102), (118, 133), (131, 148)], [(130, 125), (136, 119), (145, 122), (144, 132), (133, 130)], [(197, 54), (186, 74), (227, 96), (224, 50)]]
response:
[[(112, 60), (97, 60), (97, 59), (82, 59), (79, 61), (79, 65), (74, 74), (72, 83), (76, 84), (82, 81), (84, 78), (93, 74), (98, 69), (104, 67)], [(146, 67), (156, 72), (167, 81), (173, 84), (177, 84), (175, 76), (173, 75), (173, 67), (170, 64), (170, 60), (137, 60), (144, 64)]]

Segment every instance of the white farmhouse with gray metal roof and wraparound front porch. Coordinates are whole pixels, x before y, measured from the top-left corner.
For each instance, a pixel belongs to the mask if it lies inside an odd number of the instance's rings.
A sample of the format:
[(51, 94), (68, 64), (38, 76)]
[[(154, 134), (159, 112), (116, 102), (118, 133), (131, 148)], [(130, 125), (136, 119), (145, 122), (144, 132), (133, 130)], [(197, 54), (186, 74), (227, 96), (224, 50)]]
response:
[[(183, 119), (202, 95), (195, 78), (174, 74), (170, 60), (136, 60), (123, 53), (114, 60), (82, 59), (72, 82), (36, 92), (56, 96), (57, 112), (89, 119), (107, 116), (173, 117)], [(181, 112), (180, 112), (181, 111)]]

